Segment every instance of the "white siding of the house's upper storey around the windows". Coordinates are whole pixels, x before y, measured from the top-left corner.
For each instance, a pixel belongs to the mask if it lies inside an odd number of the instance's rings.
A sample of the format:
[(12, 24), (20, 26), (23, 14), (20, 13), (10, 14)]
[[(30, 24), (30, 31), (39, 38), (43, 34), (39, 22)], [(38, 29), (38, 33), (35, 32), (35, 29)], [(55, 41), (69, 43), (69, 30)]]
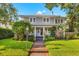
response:
[[(55, 19), (55, 18), (51, 19), (49, 17), (43, 17), (43, 18), (42, 17), (41, 18), (40, 17), (39, 18), (38, 17), (37, 18), (30, 17), (30, 18), (32, 18), (32, 22), (31, 22), (32, 25), (57, 25), (57, 24), (61, 24), (60, 18), (59, 19)], [(35, 18), (35, 21), (34, 21), (34, 18)], [(47, 18), (48, 18), (48, 22), (47, 22)], [(57, 23), (56, 23), (56, 20), (57, 20)]]

